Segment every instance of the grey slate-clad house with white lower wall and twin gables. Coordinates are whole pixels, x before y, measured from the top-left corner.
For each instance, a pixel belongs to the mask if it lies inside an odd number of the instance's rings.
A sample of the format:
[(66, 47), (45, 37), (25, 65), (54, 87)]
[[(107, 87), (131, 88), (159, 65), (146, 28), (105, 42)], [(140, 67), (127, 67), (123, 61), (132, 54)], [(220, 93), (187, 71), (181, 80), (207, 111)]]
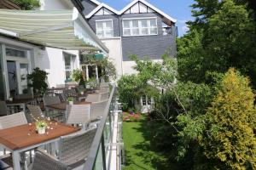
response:
[(83, 14), (109, 49), (118, 77), (136, 73), (130, 55), (161, 61), (170, 49), (176, 54), (176, 26), (171, 16), (144, 0), (134, 0), (118, 11), (96, 0), (82, 0)]

